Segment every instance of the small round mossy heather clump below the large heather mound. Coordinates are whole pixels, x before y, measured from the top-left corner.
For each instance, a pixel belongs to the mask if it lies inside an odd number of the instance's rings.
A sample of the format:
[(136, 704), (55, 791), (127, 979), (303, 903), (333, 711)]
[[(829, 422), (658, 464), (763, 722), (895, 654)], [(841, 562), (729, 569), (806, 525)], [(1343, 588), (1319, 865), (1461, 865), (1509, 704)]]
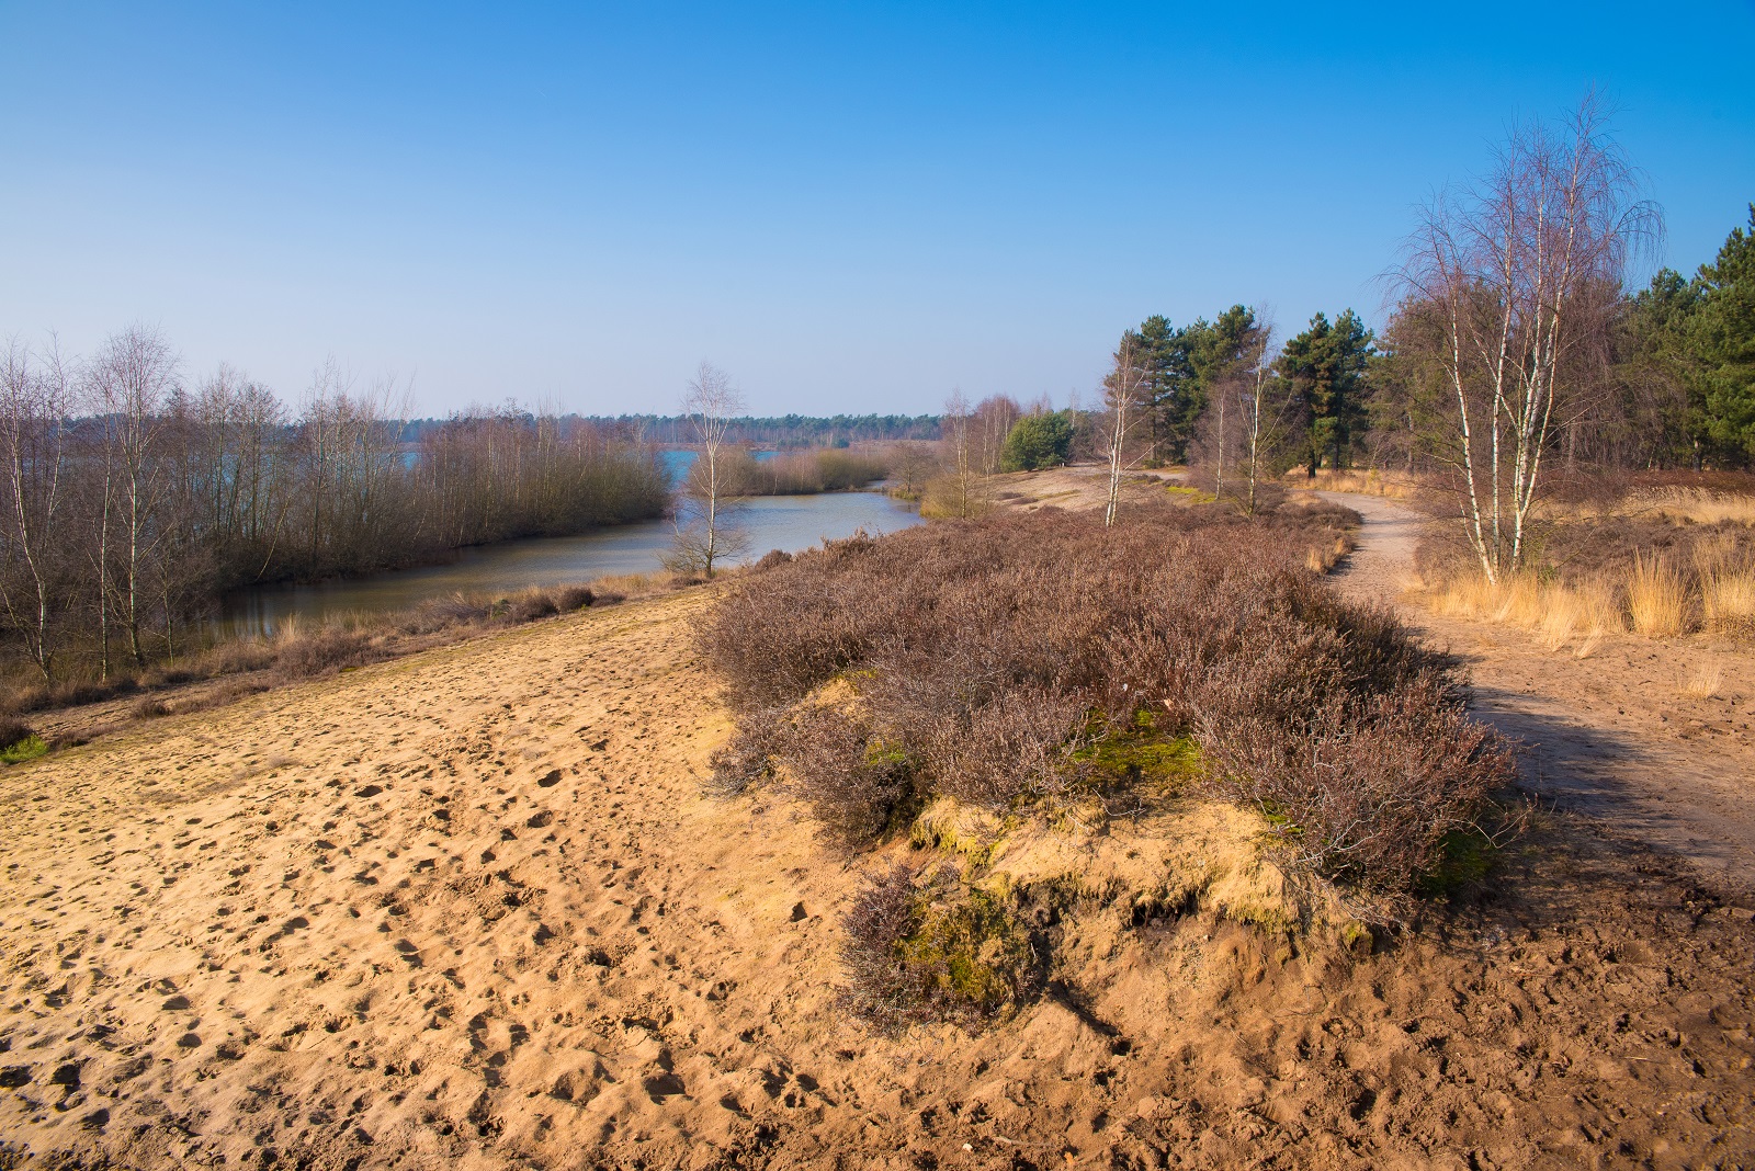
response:
[(1030, 934), (1006, 901), (941, 869), (874, 875), (841, 922), (841, 1006), (893, 1033), (918, 1020), (976, 1027), (1039, 985)]

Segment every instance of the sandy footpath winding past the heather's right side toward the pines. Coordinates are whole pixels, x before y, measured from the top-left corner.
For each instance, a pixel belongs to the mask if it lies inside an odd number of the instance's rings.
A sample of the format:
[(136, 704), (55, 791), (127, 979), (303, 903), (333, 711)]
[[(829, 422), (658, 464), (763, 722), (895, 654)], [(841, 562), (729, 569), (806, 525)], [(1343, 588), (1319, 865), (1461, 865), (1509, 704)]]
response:
[[(1755, 885), (1755, 663), (1746, 654), (1623, 636), (1580, 659), (1513, 626), (1400, 603), (1423, 517), (1378, 496), (1322, 496), (1365, 519), (1336, 584), (1397, 607), (1467, 664), (1478, 712), (1523, 742), (1532, 791), (1688, 859), (1715, 885)], [(1692, 698), (1687, 682), (1708, 661), (1723, 675), (1720, 698)]]

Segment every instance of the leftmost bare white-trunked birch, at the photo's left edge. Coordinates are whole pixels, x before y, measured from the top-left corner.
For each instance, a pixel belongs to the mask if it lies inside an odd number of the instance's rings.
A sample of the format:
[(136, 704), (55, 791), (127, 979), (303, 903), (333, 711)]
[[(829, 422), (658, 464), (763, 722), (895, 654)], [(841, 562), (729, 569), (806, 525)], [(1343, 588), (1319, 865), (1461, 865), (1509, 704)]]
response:
[(51, 338), (40, 368), (16, 340), (0, 354), (0, 461), (5, 508), (0, 543), (23, 566), (23, 582), (0, 573), (0, 605), (25, 652), (53, 684), (56, 610), (63, 605), (67, 436), (72, 419), (70, 372)]

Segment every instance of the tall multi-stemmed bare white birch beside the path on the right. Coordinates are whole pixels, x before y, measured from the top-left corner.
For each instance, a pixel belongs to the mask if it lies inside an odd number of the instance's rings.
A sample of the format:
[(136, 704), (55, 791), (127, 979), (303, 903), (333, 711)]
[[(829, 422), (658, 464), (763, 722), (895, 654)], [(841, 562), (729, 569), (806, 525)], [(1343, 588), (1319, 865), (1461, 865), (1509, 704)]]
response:
[(1525, 550), (1543, 456), (1564, 417), (1569, 356), (1609, 321), (1630, 249), (1655, 240), (1653, 203), (1608, 137), (1595, 95), (1558, 128), (1513, 128), (1492, 172), (1437, 196), (1408, 244), (1402, 312), (1425, 333), (1450, 398), (1437, 456), (1488, 580)]

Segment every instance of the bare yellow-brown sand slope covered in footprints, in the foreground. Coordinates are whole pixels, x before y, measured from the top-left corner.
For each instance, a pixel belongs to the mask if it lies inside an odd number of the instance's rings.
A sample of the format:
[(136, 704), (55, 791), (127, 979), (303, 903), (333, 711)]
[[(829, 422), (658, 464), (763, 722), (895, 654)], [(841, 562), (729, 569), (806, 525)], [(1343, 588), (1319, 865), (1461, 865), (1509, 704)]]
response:
[(1165, 910), (986, 1034), (865, 1033), (837, 917), (883, 859), (698, 796), (709, 598), (0, 773), (0, 1162), (1755, 1159), (1748, 912), (1567, 819), (1376, 955)]

